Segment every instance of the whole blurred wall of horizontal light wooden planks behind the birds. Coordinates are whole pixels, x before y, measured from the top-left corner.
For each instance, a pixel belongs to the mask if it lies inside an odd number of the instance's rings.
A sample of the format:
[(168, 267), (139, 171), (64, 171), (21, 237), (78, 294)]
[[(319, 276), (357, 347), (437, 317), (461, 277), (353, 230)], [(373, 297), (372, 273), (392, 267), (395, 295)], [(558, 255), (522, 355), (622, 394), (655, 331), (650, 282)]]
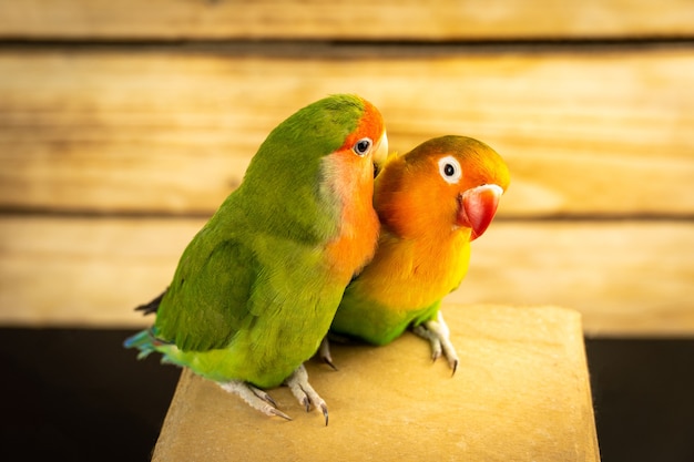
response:
[(142, 326), (268, 131), (329, 93), (512, 185), (457, 302), (694, 333), (694, 3), (0, 3), (0, 324)]

